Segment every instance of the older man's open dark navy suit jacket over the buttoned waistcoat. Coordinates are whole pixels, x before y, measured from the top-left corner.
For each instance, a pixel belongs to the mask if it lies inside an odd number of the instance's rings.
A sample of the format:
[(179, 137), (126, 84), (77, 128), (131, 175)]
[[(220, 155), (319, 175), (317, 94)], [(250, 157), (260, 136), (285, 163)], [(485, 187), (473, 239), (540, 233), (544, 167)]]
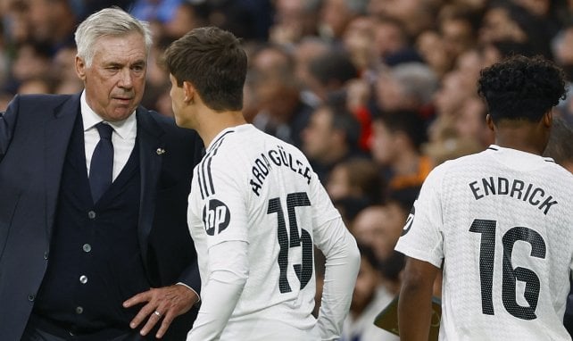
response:
[[(15, 96), (0, 113), (1, 340), (20, 340), (44, 278), (62, 165), (79, 114), (79, 94)], [(183, 282), (198, 293), (187, 195), (203, 143), (194, 130), (157, 112), (139, 107), (136, 114), (137, 238), (147, 277), (152, 287)], [(176, 319), (164, 339), (185, 339), (195, 315), (194, 308)]]

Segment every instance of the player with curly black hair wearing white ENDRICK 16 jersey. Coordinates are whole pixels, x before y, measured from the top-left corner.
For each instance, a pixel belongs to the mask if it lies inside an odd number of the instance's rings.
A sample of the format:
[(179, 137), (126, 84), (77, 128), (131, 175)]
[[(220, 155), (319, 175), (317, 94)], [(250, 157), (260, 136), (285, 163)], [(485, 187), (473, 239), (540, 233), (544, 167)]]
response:
[(495, 145), (444, 162), (422, 186), (396, 250), (406, 254), (403, 340), (428, 340), (443, 267), (440, 340), (569, 340), (573, 176), (541, 156), (561, 70), (515, 56), (484, 69), (479, 94)]

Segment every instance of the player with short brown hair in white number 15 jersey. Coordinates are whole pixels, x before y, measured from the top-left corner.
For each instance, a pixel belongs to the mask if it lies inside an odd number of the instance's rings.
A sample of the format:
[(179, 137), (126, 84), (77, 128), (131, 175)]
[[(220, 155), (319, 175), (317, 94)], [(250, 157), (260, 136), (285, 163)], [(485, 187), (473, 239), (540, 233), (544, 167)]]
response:
[[(194, 29), (165, 55), (176, 121), (206, 146), (187, 214), (202, 279), (187, 340), (337, 339), (360, 254), (303, 153), (245, 122), (239, 41)], [(327, 258), (318, 320), (313, 245)]]

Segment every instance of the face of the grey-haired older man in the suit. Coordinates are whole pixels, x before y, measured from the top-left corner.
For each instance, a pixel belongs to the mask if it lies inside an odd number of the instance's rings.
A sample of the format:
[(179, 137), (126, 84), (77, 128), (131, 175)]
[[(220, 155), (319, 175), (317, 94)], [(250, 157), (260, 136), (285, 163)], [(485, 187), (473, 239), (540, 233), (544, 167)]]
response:
[(147, 53), (144, 37), (100, 37), (91, 66), (76, 58), (89, 107), (105, 121), (122, 121), (134, 112), (145, 89)]

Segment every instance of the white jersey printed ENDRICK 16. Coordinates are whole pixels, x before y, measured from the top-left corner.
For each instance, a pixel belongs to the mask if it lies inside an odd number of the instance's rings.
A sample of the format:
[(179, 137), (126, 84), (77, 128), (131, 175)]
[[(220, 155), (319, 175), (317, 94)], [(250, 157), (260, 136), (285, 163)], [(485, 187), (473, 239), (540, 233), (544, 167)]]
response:
[(440, 340), (570, 340), (573, 175), (490, 146), (444, 162), (422, 186), (395, 249), (444, 265)]

